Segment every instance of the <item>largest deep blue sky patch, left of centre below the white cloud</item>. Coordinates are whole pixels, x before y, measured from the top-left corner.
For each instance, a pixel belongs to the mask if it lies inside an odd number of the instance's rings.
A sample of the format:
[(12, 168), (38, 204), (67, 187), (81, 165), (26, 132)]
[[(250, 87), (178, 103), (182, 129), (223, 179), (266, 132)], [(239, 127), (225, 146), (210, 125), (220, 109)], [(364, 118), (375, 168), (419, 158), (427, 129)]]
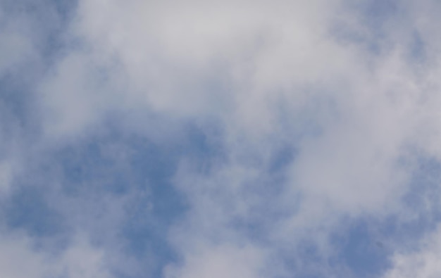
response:
[[(115, 126), (101, 127), (88, 137), (45, 149), (39, 159), (27, 162), (23, 173), (27, 178), (16, 181), (18, 187), (4, 208), (7, 225), (25, 230), (37, 242), (47, 236), (69, 236), (66, 227), (75, 223), (63, 220), (60, 211), (64, 209), (59, 207), (63, 205), (48, 198), (62, 194), (73, 206), (85, 206), (95, 198), (135, 194), (125, 206), (125, 220), (113, 228), (118, 229), (128, 255), (151, 260), (151, 253), (155, 254), (154, 272), (159, 277), (163, 265), (176, 260), (177, 255), (168, 246), (168, 229), (187, 210), (185, 196), (172, 182), (178, 163), (182, 158), (190, 159), (204, 174), (210, 160), (222, 156), (217, 143), (211, 143), (217, 139), (207, 135), (216, 137), (213, 127), (210, 129), (204, 132), (187, 125), (182, 137), (159, 144), (136, 134), (126, 135)], [(86, 206), (91, 207), (76, 213), (95, 217), (99, 208)], [(75, 217), (75, 210), (73, 213), (68, 217)]]

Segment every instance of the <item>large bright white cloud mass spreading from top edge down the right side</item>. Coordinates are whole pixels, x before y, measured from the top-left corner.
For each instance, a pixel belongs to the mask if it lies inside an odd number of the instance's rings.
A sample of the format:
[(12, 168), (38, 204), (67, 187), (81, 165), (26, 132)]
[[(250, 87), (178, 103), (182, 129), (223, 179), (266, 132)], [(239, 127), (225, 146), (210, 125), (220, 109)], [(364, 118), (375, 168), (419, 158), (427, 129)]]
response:
[[(433, 120), (437, 81), (418, 72), (423, 67), (428, 76), (434, 75), (437, 65), (417, 67), (407, 61), (409, 46), (400, 42), (409, 42), (411, 34), (404, 27), (385, 25), (390, 37), (383, 42), (369, 34), (354, 16), (356, 11), (340, 4), (80, 2), (75, 32), (100, 59), (120, 61), (128, 99), (172, 117), (213, 117), (225, 127), (225, 165), (216, 165), (201, 178), (183, 170), (177, 179), (194, 206), (181, 241), (213, 234), (231, 240), (237, 231), (228, 224), (237, 217), (247, 219), (251, 208), (265, 200), (250, 200), (244, 192), (252, 191), (247, 189), (261, 182), (259, 178), (265, 180), (268, 173), (258, 173), (266, 171), (268, 152), (280, 138), (291, 137), (299, 156), (290, 166), (284, 198), (272, 200), (292, 213), (270, 232), (276, 241), (295, 246), (302, 234), (316, 227), (334, 229), (344, 215), (387, 215), (399, 206), (409, 182), (409, 168), (400, 161), (409, 156), (409, 147), (435, 146), (423, 143), (430, 137), (421, 129), (432, 134), (430, 141), (438, 138)], [(364, 32), (368, 43), (382, 51), (375, 54), (349, 38), (334, 37), (338, 14), (347, 15), (347, 28)], [(421, 20), (406, 16), (399, 20), (410, 20), (408, 25)], [(417, 26), (423, 34), (426, 25)], [(423, 36), (425, 42), (430, 40)], [(216, 82), (226, 84), (225, 89), (204, 87)], [(422, 101), (423, 95), (427, 99)], [(287, 110), (285, 125), (280, 124), (281, 103)], [(325, 108), (318, 111), (322, 106), (316, 103), (325, 103)], [(318, 132), (302, 134), (296, 125), (303, 119)], [(298, 195), (300, 205), (292, 201)], [(187, 272), (209, 271), (197, 269), (189, 256), (188, 265), (176, 273), (186, 277)], [(201, 265), (209, 267), (211, 255), (207, 257)], [(254, 273), (252, 267), (249, 271)]]

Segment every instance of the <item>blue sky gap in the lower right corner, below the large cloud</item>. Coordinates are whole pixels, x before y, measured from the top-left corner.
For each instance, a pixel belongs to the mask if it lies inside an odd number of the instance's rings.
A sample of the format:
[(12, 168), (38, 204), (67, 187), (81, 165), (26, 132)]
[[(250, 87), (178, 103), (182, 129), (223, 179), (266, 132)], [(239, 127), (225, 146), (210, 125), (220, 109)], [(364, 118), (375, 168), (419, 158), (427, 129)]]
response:
[(402, 212), (408, 217), (364, 216), (345, 221), (332, 236), (339, 253), (337, 260), (347, 266), (354, 277), (380, 277), (391, 267), (392, 253), (416, 250), (418, 241), (435, 231), (441, 220), (441, 207), (437, 202), (440, 168), (440, 164), (430, 158), (418, 161), (411, 187), (403, 196)]

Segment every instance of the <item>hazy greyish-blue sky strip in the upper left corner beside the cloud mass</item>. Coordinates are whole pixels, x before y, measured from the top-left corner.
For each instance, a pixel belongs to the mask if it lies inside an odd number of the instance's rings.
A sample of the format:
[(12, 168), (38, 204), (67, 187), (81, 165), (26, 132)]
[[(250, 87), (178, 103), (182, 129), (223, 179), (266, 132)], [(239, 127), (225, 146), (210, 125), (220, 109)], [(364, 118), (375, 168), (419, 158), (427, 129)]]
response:
[[(75, 2), (1, 1), (0, 8), (6, 16), (0, 19), (0, 31), (21, 36), (30, 44), (27, 47), (31, 53), (24, 53), (18, 63), (0, 72), (1, 113), (8, 113), (15, 120), (11, 125), (20, 127), (25, 133), (23, 138), (35, 138), (38, 132), (41, 119), (35, 106), (38, 103), (36, 84), (58, 61), (62, 49), (66, 49), (63, 32), (66, 32), (73, 15)], [(2, 117), (4, 125), (8, 122), (11, 121)]]

